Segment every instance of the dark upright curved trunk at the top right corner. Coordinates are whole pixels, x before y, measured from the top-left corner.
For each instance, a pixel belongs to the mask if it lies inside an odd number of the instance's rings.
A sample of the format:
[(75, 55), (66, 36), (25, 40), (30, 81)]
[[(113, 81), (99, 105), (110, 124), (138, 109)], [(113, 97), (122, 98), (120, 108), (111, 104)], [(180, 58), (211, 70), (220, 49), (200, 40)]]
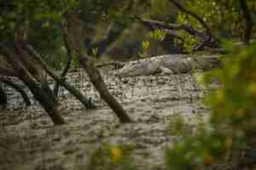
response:
[(250, 39), (252, 37), (253, 19), (252, 19), (252, 15), (250, 14), (250, 10), (247, 6), (247, 1), (239, 0), (239, 3), (240, 3), (242, 14), (243, 14), (245, 22), (246, 22), (244, 42), (249, 43)]

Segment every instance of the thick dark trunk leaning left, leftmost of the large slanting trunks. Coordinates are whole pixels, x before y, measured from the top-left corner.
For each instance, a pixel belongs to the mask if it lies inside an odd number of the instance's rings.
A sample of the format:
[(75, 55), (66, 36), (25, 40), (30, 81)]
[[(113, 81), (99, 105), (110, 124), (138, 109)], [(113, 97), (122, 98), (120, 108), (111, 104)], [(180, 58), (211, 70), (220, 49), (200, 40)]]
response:
[(9, 62), (9, 64), (15, 67), (17, 77), (19, 77), (20, 80), (24, 82), (26, 86), (31, 90), (33, 97), (37, 99), (38, 102), (43, 106), (44, 110), (48, 113), (49, 117), (55, 123), (55, 125), (64, 124), (65, 122), (61, 117), (61, 114), (57, 111), (53, 100), (49, 99), (49, 95), (47, 95), (44, 90), (39, 87), (38, 83), (33, 79), (32, 74), (26, 70), (25, 65), (20, 62), (17, 55), (11, 53), (9, 48), (3, 44), (1, 47), (3, 49), (5, 59)]

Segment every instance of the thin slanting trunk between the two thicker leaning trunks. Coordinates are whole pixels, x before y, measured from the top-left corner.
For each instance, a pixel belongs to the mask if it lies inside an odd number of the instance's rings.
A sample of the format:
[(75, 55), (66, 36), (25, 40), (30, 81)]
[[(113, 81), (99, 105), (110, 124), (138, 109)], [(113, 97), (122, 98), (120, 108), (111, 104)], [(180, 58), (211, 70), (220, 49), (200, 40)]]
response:
[(90, 99), (87, 99), (83, 94), (79, 92), (76, 88), (73, 88), (69, 83), (66, 82), (65, 79), (62, 79), (53, 71), (44, 61), (44, 59), (38, 54), (32, 46), (28, 45), (26, 42), (21, 42), (23, 47), (26, 48), (29, 54), (31, 54), (34, 59), (37, 59), (38, 63), (40, 63), (44, 70), (52, 77), (56, 82), (59, 82), (61, 86), (66, 88), (71, 94), (73, 94), (79, 101), (86, 107), (87, 109), (95, 109), (96, 105), (94, 105)]

